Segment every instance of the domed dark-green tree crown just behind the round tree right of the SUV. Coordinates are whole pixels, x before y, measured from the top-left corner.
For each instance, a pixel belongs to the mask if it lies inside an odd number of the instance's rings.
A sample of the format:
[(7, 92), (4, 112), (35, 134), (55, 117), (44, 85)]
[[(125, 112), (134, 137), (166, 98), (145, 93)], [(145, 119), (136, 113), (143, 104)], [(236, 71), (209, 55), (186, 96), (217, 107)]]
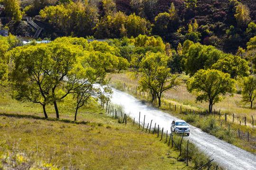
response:
[(219, 59), (213, 64), (212, 69), (218, 69), (223, 73), (228, 73), (231, 78), (237, 79), (237, 76), (248, 76), (248, 64), (245, 59), (228, 54), (224, 59)]

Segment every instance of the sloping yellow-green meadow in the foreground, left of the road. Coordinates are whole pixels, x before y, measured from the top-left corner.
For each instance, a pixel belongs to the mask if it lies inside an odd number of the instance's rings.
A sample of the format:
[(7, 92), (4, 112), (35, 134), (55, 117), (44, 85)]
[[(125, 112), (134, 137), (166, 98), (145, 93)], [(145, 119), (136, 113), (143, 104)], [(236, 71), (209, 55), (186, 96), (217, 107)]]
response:
[(177, 149), (132, 121), (118, 123), (95, 103), (79, 110), (77, 122), (68, 102), (59, 105), (60, 119), (47, 106), (45, 119), (40, 105), (12, 100), (7, 91), (0, 94), (0, 170), (192, 170), (205, 163), (187, 167)]

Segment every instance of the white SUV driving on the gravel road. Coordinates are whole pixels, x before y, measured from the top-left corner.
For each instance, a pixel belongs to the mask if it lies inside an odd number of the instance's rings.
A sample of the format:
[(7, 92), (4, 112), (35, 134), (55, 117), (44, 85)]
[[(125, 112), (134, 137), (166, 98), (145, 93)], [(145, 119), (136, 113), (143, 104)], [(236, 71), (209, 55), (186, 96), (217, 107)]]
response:
[(173, 120), (171, 122), (171, 132), (174, 133), (185, 133), (190, 136), (190, 127), (184, 120)]

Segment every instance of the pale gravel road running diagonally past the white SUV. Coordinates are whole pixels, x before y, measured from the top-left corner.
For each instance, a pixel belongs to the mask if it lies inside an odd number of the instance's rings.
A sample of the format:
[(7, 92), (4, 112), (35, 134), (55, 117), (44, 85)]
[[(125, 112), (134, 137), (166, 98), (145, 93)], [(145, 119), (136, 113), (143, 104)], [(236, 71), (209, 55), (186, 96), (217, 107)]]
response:
[[(145, 115), (145, 125), (150, 124), (152, 120), (152, 126), (156, 123), (156, 125), (163, 127), (165, 132), (168, 130), (170, 133), (171, 121), (175, 117), (146, 106), (127, 93), (116, 89), (112, 90), (114, 93), (111, 102), (122, 105), (123, 111), (131, 118), (135, 118), (136, 122), (139, 122), (139, 112), (141, 112), (141, 123), (143, 123)], [(256, 170), (256, 155), (211, 136), (197, 127), (190, 126), (188, 138), (197, 144), (204, 153), (207, 153), (210, 159), (214, 159), (227, 170)]]

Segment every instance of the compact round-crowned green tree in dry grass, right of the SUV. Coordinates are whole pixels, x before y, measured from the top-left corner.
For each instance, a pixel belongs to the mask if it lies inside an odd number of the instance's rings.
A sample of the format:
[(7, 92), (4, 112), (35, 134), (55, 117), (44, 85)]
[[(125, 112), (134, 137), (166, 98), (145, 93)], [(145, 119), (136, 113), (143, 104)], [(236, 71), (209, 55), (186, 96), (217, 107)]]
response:
[(200, 69), (194, 78), (187, 81), (186, 86), (189, 93), (196, 95), (196, 101), (209, 102), (209, 112), (211, 112), (212, 106), (225, 98), (227, 94), (234, 95), (235, 82), (229, 74), (219, 70)]

